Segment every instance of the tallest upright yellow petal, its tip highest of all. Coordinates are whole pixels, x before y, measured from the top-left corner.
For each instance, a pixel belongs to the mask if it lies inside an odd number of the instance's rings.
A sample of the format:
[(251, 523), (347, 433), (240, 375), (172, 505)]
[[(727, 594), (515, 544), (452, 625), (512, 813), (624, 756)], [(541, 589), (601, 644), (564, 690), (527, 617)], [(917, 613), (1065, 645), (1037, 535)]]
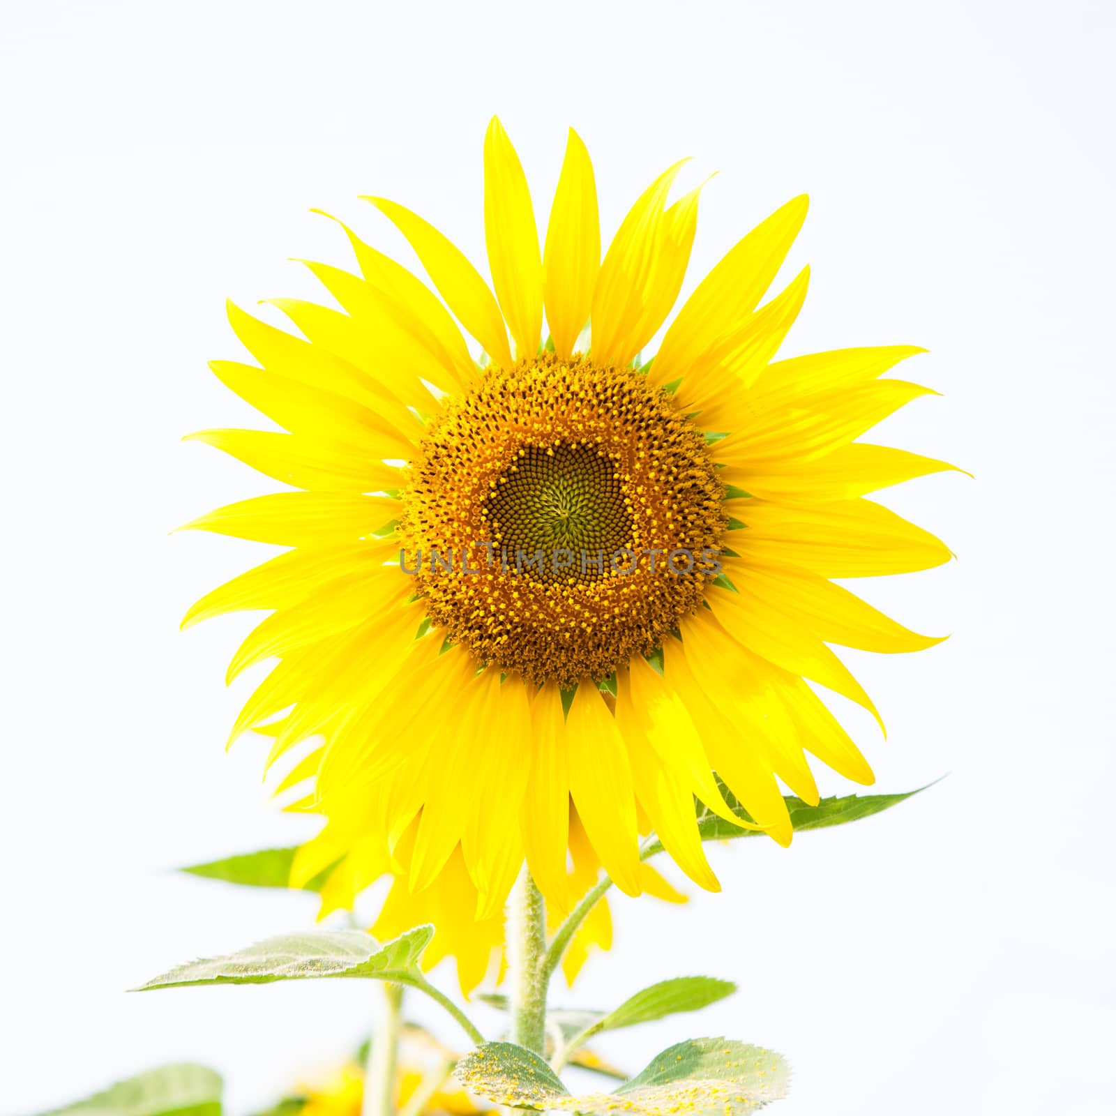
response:
[(520, 358), (542, 335), (542, 259), (527, 175), (499, 117), (484, 136), (484, 243), (492, 286)]

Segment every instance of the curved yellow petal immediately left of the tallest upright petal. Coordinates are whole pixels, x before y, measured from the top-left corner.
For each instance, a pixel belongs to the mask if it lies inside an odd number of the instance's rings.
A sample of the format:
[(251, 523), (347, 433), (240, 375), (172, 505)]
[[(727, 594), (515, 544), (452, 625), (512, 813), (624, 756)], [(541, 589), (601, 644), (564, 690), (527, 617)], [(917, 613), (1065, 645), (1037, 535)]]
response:
[(500, 307), (477, 269), (432, 224), (384, 198), (368, 198), (406, 237), (431, 281), (458, 320), (497, 363), (511, 365), (511, 349)]

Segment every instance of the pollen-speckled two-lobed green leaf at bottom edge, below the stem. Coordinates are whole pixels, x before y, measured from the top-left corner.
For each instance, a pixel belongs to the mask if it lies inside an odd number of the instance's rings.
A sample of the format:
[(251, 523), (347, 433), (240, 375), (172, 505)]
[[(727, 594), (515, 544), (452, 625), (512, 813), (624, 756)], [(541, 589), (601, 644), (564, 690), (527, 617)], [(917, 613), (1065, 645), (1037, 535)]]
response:
[(664, 1050), (615, 1093), (571, 1096), (538, 1056), (511, 1042), (489, 1042), (459, 1064), (470, 1091), (509, 1108), (562, 1109), (610, 1116), (743, 1116), (787, 1095), (780, 1055), (728, 1039), (689, 1039)]

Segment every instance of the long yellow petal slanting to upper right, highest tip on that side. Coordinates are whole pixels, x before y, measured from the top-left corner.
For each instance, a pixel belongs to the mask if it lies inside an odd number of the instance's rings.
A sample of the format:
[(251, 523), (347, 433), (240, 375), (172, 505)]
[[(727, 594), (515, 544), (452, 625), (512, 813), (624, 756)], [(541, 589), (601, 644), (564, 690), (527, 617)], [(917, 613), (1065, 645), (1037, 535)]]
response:
[(683, 377), (721, 337), (740, 328), (782, 267), (808, 204), (806, 194), (791, 199), (710, 271), (666, 330), (650, 373), (652, 383)]

